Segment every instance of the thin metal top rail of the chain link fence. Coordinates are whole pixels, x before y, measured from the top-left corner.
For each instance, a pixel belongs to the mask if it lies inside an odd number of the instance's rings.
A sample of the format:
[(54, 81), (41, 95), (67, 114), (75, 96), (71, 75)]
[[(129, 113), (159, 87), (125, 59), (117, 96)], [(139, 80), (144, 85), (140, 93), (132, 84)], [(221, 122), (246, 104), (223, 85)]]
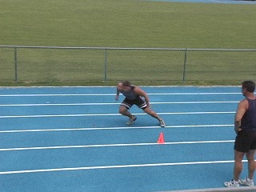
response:
[(0, 48), (23, 49), (76, 49), (76, 50), (215, 50), (215, 51), (256, 51), (254, 49), (193, 49), (193, 48), (129, 48), (129, 47), (90, 47), (90, 46), (0, 46)]

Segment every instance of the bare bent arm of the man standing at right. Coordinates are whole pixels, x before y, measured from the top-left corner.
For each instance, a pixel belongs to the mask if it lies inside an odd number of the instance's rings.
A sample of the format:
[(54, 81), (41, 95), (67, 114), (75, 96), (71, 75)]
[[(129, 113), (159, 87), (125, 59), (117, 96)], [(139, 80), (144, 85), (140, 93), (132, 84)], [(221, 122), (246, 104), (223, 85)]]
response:
[(246, 113), (246, 110), (248, 109), (248, 105), (249, 105), (249, 103), (247, 102), (246, 99), (242, 100), (238, 104), (238, 110), (234, 116), (234, 130), (236, 132), (242, 130), (240, 127), (241, 120), (242, 120), (243, 115)]

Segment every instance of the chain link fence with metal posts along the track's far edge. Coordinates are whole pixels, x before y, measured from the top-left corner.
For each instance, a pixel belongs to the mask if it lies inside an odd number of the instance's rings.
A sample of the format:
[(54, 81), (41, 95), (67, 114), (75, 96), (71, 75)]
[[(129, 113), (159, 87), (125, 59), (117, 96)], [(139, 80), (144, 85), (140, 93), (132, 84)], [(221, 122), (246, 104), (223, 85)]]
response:
[(243, 81), (256, 50), (0, 46), (2, 82)]

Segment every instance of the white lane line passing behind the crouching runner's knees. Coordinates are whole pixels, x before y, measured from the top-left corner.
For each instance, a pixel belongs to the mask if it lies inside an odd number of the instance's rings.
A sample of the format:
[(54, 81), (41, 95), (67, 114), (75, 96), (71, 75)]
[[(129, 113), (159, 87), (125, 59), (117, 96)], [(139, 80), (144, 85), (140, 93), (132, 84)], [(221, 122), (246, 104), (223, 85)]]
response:
[[(235, 111), (203, 111), (203, 112), (169, 112), (158, 114), (234, 114)], [(86, 116), (116, 116), (121, 114), (38, 114), (38, 115), (6, 115), (0, 118), (56, 118), (56, 117), (86, 117)], [(147, 115), (147, 114), (135, 114)]]

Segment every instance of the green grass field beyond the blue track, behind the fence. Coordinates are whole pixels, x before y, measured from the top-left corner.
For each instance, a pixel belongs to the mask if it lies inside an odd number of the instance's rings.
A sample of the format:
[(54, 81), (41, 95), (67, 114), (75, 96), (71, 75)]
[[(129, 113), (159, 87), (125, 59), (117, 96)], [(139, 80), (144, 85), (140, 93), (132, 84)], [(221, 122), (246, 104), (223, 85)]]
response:
[[(256, 5), (140, 0), (0, 4), (2, 46), (256, 49)], [(109, 81), (102, 83), (103, 51), (23, 49), (18, 50), (19, 82), (14, 82), (14, 51), (0, 48), (0, 80), (2, 86), (106, 85), (121, 78), (141, 85), (234, 85), (256, 74), (256, 52), (200, 52), (189, 54), (188, 75), (182, 82), (183, 54), (174, 54), (110, 51)]]

